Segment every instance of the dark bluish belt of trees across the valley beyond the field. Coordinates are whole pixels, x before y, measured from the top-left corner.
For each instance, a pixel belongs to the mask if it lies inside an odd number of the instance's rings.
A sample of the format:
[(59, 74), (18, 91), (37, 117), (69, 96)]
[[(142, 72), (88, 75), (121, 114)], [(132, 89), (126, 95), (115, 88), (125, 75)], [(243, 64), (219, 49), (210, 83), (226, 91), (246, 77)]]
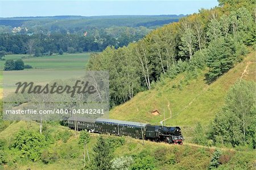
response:
[(86, 36), (79, 34), (0, 34), (0, 51), (14, 54), (46, 55), (48, 52), (98, 52), (108, 45), (115, 48), (141, 39), (149, 31), (147, 28), (117, 27), (92, 30)]

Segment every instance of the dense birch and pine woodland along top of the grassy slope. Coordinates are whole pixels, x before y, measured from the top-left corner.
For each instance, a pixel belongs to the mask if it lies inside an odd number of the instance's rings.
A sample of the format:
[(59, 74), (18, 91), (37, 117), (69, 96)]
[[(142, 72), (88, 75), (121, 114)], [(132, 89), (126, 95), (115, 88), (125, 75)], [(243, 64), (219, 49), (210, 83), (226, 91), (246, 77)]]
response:
[(109, 46), (93, 54), (87, 68), (109, 71), (112, 107), (151, 89), (161, 77), (172, 78), (184, 71), (196, 74), (208, 67), (205, 78), (213, 82), (255, 43), (253, 3), (220, 1), (221, 6), (201, 9), (137, 43), (118, 49)]

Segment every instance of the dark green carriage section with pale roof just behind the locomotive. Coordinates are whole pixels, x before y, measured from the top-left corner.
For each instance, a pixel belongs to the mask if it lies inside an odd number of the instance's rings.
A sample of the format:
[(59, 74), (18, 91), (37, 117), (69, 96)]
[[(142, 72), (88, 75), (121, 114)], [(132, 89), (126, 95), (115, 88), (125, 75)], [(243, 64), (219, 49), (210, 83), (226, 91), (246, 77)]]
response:
[(118, 121), (113, 119), (98, 118), (95, 121), (97, 129), (102, 133), (109, 133), (114, 135), (125, 135), (133, 138), (144, 138), (147, 124), (138, 122)]

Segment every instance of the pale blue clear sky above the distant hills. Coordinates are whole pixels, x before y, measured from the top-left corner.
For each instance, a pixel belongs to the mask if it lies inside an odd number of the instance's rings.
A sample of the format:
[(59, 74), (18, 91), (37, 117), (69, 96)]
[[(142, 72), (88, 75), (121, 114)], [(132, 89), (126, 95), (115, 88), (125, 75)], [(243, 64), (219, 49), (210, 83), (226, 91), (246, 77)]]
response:
[(168, 15), (192, 14), (217, 6), (217, 0), (170, 1), (2, 1), (0, 17), (56, 15)]

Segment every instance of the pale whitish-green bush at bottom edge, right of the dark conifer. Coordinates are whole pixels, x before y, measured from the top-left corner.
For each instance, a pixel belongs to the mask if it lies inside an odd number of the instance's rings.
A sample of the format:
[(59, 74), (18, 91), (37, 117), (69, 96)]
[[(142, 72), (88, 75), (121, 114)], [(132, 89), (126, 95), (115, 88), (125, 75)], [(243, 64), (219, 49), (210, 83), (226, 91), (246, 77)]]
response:
[(111, 168), (113, 170), (129, 170), (133, 162), (133, 157), (131, 156), (117, 157), (113, 160)]

